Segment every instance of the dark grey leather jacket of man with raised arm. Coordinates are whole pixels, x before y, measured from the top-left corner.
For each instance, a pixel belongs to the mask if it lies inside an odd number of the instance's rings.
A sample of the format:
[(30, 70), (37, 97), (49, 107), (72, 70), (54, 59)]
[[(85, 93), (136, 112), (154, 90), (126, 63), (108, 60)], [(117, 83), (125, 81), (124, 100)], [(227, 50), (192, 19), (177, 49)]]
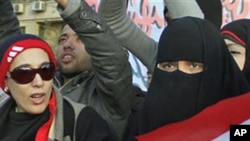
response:
[(63, 96), (93, 107), (107, 120), (115, 140), (120, 141), (132, 111), (131, 67), (111, 29), (85, 1), (69, 1), (67, 7), (65, 10), (71, 12), (67, 15), (64, 11), (61, 16), (85, 44), (93, 68), (66, 84), (58, 72), (54, 84)]

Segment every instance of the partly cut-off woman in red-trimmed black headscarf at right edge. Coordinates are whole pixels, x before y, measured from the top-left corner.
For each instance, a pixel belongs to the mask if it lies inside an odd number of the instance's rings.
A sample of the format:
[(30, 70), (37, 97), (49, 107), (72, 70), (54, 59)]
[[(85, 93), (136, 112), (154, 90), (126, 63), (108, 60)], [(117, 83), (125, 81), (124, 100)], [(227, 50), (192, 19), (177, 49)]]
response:
[(239, 19), (226, 24), (221, 29), (221, 34), (250, 84), (250, 19)]

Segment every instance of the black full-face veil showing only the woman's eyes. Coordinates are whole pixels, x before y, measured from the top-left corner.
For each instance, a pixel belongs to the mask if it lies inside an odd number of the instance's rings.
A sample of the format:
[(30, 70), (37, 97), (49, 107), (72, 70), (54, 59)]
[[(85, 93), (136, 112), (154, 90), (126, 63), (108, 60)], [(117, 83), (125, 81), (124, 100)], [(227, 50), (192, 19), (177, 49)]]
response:
[(218, 29), (207, 20), (184, 17), (164, 29), (157, 64), (178, 60), (202, 62), (203, 72), (165, 72), (155, 67), (139, 115), (139, 134), (187, 119), (219, 100), (249, 91)]

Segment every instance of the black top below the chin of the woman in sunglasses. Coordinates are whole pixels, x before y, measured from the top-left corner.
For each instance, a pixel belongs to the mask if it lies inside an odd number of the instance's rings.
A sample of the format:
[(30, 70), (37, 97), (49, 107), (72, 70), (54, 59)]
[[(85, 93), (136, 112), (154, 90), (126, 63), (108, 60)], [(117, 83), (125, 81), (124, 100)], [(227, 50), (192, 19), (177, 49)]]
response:
[(48, 108), (41, 115), (15, 112), (15, 101), (9, 100), (1, 111), (0, 140), (3, 141), (32, 141), (36, 137), (37, 130), (49, 119)]

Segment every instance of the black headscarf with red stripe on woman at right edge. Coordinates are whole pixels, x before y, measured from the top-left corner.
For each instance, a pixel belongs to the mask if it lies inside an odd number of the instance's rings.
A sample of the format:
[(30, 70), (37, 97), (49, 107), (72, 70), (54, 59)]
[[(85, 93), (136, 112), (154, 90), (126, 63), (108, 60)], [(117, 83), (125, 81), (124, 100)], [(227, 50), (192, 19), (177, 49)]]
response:
[(226, 24), (221, 29), (221, 34), (224, 38), (245, 47), (246, 58), (243, 73), (250, 85), (250, 19), (240, 19)]

